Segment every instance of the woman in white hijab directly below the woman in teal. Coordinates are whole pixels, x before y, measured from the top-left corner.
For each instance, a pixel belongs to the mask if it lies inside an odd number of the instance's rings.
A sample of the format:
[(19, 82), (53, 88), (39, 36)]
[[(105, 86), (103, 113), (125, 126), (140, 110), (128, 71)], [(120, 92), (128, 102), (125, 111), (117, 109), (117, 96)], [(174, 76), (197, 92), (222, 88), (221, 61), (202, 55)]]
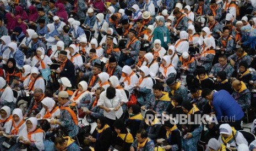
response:
[(166, 53), (165, 48), (161, 47), (161, 40), (155, 39), (153, 53), (152, 53), (154, 55), (154, 60), (157, 60), (157, 61), (162, 60), (162, 57), (165, 55), (165, 53)]

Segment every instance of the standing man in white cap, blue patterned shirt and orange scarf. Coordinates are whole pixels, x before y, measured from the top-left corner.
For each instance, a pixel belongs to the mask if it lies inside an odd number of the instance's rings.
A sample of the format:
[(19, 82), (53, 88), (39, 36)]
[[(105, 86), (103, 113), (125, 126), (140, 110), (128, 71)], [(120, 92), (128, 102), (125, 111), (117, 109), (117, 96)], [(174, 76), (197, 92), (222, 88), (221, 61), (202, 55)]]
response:
[(61, 130), (69, 137), (74, 138), (78, 134), (77, 107), (74, 102), (69, 100), (67, 91), (61, 91), (58, 94), (58, 102), (61, 107), (61, 116), (59, 120), (50, 121), (51, 125), (59, 125)]

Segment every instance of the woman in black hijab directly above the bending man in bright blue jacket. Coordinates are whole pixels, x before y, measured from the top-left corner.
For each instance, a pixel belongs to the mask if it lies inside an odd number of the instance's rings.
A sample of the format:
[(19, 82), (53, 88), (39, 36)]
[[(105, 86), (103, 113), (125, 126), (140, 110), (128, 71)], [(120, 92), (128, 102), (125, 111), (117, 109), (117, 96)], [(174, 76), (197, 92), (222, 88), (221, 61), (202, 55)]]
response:
[(231, 87), (230, 82), (228, 82), (227, 73), (225, 71), (220, 71), (217, 73), (214, 90), (216, 91), (226, 90), (230, 94), (232, 94), (233, 89)]

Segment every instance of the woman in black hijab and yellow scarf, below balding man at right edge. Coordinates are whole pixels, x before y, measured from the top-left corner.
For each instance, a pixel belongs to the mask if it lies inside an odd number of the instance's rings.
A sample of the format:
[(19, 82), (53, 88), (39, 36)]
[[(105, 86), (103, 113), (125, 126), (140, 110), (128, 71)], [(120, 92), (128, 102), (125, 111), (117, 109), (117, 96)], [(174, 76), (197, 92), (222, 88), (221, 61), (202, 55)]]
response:
[(246, 61), (241, 61), (239, 63), (239, 72), (233, 72), (231, 82), (233, 82), (233, 79), (238, 79), (246, 85), (248, 85), (249, 81), (252, 80), (252, 74), (250, 74), (250, 71), (248, 70), (248, 64)]

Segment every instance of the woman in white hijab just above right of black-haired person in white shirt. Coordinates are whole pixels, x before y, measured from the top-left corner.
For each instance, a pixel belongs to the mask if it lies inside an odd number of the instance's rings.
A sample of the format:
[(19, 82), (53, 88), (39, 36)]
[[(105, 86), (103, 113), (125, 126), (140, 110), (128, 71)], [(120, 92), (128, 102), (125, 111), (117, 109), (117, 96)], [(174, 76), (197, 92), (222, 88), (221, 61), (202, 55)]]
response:
[(123, 66), (122, 77), (120, 78), (119, 82), (124, 83), (124, 89), (128, 91), (132, 91), (133, 86), (135, 86), (135, 84), (139, 82), (139, 78), (133, 72), (132, 68), (126, 65), (126, 66)]

